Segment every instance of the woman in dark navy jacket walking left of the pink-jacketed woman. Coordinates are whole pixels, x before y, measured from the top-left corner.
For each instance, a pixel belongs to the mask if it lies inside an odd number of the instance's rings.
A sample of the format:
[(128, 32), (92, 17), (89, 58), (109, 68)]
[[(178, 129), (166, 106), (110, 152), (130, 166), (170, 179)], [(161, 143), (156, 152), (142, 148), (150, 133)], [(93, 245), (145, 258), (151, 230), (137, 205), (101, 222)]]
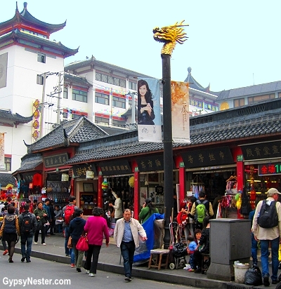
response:
[(81, 272), (82, 260), (84, 251), (77, 250), (76, 244), (84, 231), (84, 226), (86, 224), (86, 220), (82, 218), (83, 210), (76, 209), (74, 210), (73, 219), (70, 222), (69, 232), (70, 237), (72, 238), (72, 260), (75, 260), (75, 263), (72, 263), (70, 266), (74, 268), (76, 266), (76, 270)]

